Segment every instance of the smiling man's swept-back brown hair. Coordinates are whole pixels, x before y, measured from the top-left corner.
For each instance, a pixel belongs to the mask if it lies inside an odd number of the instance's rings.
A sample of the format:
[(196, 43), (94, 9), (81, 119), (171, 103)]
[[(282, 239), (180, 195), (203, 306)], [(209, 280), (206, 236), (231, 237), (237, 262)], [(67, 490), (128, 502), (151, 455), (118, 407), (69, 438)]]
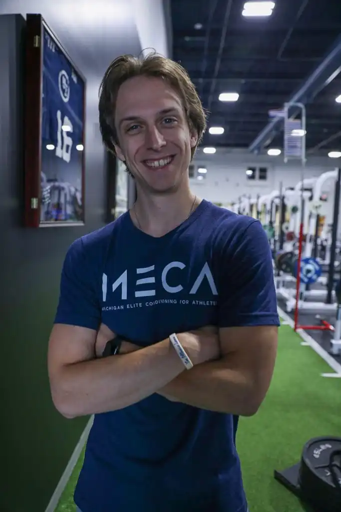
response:
[[(134, 76), (159, 77), (167, 80), (178, 93), (186, 113), (190, 130), (198, 135), (197, 145), (206, 130), (206, 114), (187, 71), (179, 63), (156, 53), (145, 57), (121, 55), (106, 70), (99, 91), (99, 121), (103, 143), (116, 155), (114, 143), (119, 145), (115, 128), (117, 95), (123, 82)], [(192, 148), (192, 158), (196, 147)]]

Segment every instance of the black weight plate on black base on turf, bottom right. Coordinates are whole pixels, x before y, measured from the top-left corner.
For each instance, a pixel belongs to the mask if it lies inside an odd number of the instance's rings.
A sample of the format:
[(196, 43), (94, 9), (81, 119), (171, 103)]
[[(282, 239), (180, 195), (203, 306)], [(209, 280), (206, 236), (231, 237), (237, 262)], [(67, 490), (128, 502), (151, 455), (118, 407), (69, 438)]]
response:
[(313, 512), (341, 509), (341, 438), (316, 437), (303, 447), (301, 462), (275, 479), (297, 496)]

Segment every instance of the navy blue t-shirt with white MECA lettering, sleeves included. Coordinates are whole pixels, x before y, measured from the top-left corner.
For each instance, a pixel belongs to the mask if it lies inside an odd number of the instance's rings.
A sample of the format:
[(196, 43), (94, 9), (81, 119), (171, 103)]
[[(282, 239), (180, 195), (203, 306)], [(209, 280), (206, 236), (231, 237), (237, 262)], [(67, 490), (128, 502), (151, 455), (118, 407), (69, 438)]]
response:
[[(103, 322), (141, 346), (205, 325), (279, 325), (266, 234), (206, 200), (161, 238), (127, 212), (72, 244), (55, 322)], [(96, 414), (75, 502), (82, 512), (246, 512), (237, 423), (158, 394)]]

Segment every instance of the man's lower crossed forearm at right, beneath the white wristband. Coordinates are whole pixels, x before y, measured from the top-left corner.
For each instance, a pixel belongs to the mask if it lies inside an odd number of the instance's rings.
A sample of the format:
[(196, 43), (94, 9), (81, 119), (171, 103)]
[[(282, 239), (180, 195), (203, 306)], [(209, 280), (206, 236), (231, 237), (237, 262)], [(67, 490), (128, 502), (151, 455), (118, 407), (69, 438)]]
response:
[(258, 408), (252, 379), (233, 367), (233, 356), (226, 364), (226, 357), (182, 373), (158, 392), (199, 409), (252, 416)]

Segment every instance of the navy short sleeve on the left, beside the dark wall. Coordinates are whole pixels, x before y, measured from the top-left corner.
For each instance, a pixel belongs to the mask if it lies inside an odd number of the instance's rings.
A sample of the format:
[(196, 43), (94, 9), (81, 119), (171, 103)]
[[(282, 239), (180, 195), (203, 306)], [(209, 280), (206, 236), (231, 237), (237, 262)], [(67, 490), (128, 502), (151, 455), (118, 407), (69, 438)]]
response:
[(87, 261), (80, 238), (70, 246), (65, 256), (55, 324), (98, 329), (101, 307), (95, 280), (96, 269)]

